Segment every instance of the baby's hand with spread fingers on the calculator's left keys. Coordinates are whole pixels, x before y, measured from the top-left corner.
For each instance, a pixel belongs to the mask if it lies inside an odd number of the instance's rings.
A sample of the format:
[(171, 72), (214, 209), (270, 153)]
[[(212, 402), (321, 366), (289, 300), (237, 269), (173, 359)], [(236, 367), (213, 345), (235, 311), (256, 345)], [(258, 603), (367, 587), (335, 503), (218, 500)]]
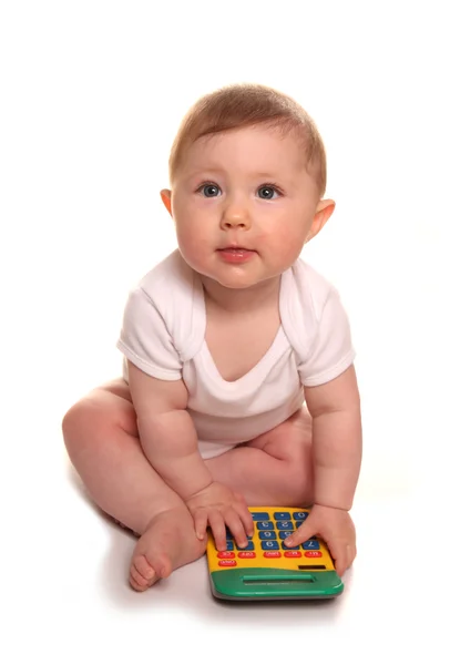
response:
[(187, 508), (195, 522), (196, 535), (203, 540), (209, 524), (217, 550), (226, 549), (226, 526), (235, 536), (239, 548), (247, 545), (247, 535), (253, 535), (253, 516), (241, 494), (232, 492), (219, 482), (212, 482), (188, 501)]

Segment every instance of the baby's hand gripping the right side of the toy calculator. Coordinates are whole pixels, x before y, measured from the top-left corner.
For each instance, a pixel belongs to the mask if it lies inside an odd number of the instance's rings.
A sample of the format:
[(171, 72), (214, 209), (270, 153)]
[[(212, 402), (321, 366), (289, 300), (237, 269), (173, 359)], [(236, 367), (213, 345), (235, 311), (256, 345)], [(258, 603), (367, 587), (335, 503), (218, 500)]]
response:
[(355, 524), (346, 510), (315, 504), (305, 522), (293, 535), (285, 540), (286, 545), (299, 545), (314, 535), (319, 535), (329, 548), (337, 574), (341, 576), (356, 556)]

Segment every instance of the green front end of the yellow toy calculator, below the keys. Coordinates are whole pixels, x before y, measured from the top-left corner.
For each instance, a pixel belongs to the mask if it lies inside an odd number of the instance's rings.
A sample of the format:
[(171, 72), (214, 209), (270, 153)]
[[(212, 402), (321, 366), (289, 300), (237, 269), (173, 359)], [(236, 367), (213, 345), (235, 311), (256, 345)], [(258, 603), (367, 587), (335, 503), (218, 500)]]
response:
[(331, 598), (344, 591), (336, 571), (304, 572), (266, 567), (211, 573), (211, 587), (227, 601)]

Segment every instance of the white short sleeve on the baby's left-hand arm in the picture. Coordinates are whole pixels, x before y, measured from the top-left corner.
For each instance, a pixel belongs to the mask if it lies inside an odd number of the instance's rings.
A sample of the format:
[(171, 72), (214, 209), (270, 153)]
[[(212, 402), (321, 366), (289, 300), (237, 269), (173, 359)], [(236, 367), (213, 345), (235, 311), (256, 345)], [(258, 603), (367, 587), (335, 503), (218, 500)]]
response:
[(116, 347), (152, 377), (166, 381), (182, 378), (182, 361), (164, 318), (142, 287), (130, 293)]

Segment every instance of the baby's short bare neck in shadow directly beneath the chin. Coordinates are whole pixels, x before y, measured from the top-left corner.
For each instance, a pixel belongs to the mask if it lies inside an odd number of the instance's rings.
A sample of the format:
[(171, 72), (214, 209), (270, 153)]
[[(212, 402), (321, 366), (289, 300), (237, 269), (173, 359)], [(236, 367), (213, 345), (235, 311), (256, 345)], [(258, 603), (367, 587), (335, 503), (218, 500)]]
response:
[(280, 276), (248, 288), (226, 288), (202, 276), (206, 305), (228, 314), (253, 314), (256, 309), (278, 304)]

